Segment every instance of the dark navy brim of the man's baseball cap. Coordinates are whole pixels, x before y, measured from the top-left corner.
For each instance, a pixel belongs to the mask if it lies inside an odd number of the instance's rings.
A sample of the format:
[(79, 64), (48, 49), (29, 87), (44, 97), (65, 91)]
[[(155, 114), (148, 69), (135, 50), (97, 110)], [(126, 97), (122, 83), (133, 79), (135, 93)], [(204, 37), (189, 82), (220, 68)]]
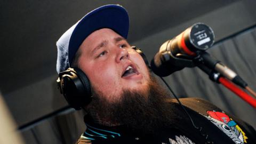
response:
[(119, 5), (104, 5), (87, 13), (77, 23), (70, 37), (68, 46), (68, 61), (70, 65), (84, 39), (93, 31), (101, 28), (112, 29), (122, 37), (127, 38), (129, 31), (127, 11)]

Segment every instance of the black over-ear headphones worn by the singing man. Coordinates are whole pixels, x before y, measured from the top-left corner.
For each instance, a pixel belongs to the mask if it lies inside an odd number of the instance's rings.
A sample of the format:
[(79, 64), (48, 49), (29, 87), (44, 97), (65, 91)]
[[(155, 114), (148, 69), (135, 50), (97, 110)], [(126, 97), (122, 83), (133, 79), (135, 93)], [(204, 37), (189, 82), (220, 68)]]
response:
[[(146, 55), (136, 46), (132, 46), (132, 49), (141, 55), (146, 65), (149, 67)], [(68, 68), (59, 73), (57, 87), (70, 107), (76, 110), (80, 110), (83, 106), (88, 105), (92, 99), (89, 78), (79, 68)]]

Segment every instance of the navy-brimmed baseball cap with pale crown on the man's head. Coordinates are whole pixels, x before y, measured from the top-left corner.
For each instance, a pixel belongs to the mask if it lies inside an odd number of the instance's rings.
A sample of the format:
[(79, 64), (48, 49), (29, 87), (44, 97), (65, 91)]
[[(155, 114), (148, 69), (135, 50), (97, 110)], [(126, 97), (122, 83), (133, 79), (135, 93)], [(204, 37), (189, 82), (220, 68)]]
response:
[(75, 25), (70, 27), (57, 41), (57, 73), (68, 69), (84, 39), (93, 31), (109, 28), (127, 38), (129, 16), (121, 5), (104, 5), (87, 13)]

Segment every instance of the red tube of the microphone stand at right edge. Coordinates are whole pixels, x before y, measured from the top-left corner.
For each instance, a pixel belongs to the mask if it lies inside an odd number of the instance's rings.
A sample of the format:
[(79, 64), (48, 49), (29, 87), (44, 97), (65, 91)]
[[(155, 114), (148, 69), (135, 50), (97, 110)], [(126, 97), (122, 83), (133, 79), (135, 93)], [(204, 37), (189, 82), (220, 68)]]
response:
[(234, 85), (233, 83), (231, 83), (230, 81), (228, 81), (226, 78), (224, 77), (220, 77), (219, 78), (219, 82), (224, 85), (225, 87), (227, 87), (230, 91), (234, 92), (235, 94), (237, 94), (240, 98), (242, 98), (244, 101), (246, 101), (247, 103), (249, 103), (251, 106), (253, 106), (254, 108), (256, 108), (256, 100), (254, 98), (252, 98), (249, 94), (247, 94), (246, 92), (242, 91), (241, 89), (239, 89), (238, 86)]

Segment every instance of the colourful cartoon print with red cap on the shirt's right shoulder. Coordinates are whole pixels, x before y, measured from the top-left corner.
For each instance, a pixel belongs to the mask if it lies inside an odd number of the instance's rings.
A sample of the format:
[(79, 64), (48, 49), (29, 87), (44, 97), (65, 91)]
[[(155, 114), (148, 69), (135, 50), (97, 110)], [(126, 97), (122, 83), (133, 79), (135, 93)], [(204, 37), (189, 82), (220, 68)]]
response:
[(243, 130), (223, 111), (207, 111), (209, 116), (205, 116), (209, 119), (214, 125), (216, 125), (221, 131), (226, 133), (229, 138), (231, 138), (237, 144), (247, 143), (248, 139), (243, 132)]

